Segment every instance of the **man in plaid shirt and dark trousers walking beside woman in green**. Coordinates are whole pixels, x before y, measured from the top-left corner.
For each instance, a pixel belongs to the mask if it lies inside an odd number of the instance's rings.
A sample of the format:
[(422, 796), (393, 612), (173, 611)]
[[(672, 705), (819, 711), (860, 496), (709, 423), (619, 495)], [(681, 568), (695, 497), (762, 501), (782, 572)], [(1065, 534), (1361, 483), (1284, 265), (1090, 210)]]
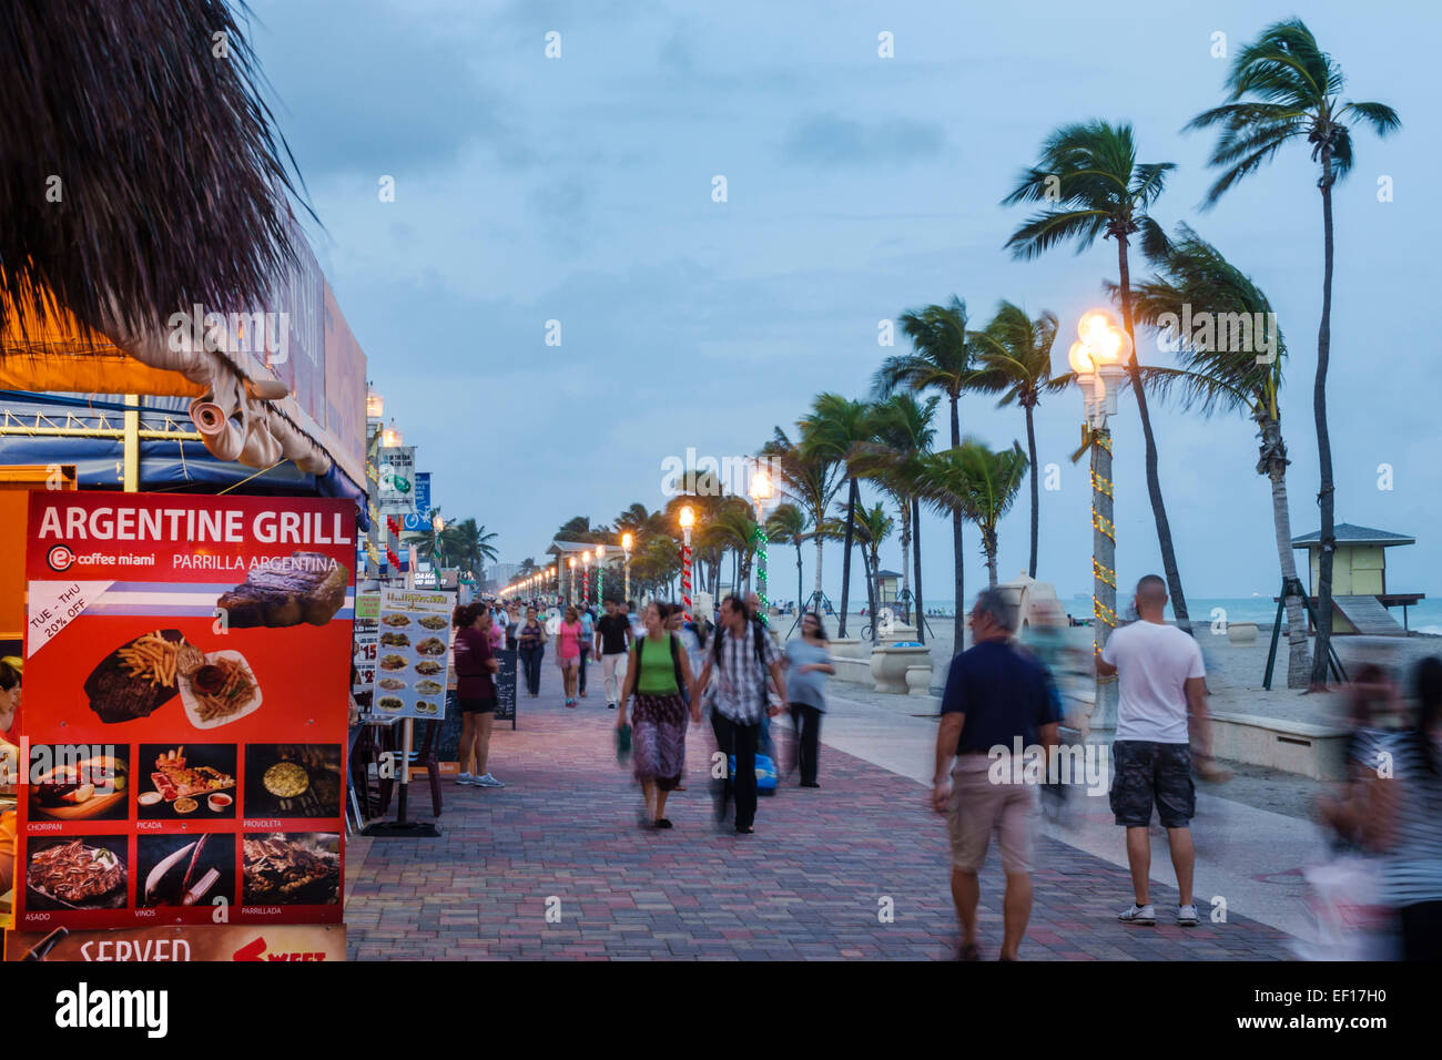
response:
[(691, 689), (692, 705), (699, 705), (702, 691), (715, 673), (711, 699), (711, 725), (722, 754), (735, 757), (721, 785), (717, 816), (724, 819), (727, 805), (735, 800), (735, 831), (750, 835), (756, 822), (756, 750), (761, 720), (780, 712), (769, 705), (766, 679), (770, 673), (786, 701), (786, 675), (780, 653), (770, 636), (757, 633), (746, 603), (735, 596), (721, 601), (721, 624), (711, 642), (711, 652), (701, 676)]

